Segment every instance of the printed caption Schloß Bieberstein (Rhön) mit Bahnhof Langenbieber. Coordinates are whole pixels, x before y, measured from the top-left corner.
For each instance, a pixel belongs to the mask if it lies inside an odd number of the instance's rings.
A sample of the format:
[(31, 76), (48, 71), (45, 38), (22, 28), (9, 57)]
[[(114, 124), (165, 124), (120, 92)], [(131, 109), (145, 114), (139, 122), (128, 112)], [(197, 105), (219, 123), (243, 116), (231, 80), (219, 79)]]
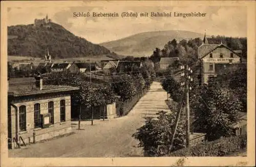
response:
[(202, 12), (73, 12), (73, 17), (205, 17)]

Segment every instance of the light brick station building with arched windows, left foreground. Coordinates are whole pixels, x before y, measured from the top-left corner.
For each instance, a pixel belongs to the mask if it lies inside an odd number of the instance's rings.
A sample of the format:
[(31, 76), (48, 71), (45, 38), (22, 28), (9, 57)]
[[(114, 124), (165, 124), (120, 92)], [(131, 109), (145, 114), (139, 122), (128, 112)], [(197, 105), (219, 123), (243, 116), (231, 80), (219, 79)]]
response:
[(71, 97), (77, 87), (13, 83), (8, 88), (8, 147), (19, 147), (71, 132)]

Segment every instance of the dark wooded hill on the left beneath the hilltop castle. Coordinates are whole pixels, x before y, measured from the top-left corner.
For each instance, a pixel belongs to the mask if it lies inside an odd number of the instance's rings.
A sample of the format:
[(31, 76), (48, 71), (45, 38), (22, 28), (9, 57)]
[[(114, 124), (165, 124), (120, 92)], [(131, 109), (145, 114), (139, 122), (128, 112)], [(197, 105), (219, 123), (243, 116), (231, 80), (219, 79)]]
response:
[(54, 22), (49, 22), (49, 27), (10, 26), (8, 37), (8, 55), (44, 58), (48, 45), (53, 58), (117, 56), (103, 46), (75, 36)]

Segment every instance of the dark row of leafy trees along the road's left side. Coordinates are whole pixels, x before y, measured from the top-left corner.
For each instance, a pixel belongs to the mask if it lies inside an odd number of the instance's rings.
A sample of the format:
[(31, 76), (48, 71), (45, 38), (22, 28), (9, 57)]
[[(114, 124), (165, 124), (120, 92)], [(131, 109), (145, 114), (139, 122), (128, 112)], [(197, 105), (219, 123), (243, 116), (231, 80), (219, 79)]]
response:
[(72, 102), (90, 107), (111, 104), (117, 100), (124, 102), (133, 98), (136, 94), (142, 93), (143, 89), (150, 87), (154, 74), (154, 71), (148, 71), (145, 66), (132, 75), (114, 75), (109, 83), (91, 85), (86, 75), (65, 71), (50, 74), (44, 84), (79, 87), (79, 91), (71, 96)]

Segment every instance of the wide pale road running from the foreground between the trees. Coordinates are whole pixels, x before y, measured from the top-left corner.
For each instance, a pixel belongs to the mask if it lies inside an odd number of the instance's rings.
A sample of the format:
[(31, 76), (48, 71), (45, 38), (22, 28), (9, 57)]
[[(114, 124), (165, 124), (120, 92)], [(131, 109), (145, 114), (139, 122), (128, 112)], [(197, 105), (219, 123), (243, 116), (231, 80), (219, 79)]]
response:
[(154, 116), (159, 110), (168, 111), (166, 92), (154, 82), (144, 97), (126, 116), (106, 121), (72, 122), (75, 134), (9, 150), (10, 157), (137, 157), (143, 156), (138, 141), (132, 137), (144, 123), (145, 116)]

